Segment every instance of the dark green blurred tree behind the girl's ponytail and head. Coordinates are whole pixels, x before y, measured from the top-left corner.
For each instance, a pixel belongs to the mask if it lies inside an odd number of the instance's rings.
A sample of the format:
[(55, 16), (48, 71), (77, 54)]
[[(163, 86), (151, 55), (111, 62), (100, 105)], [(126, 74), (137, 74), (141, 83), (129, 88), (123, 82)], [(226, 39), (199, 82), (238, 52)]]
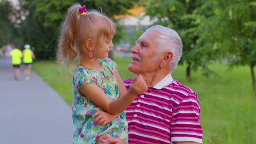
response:
[[(59, 35), (59, 27), (68, 7), (77, 2), (80, 1), (21, 1), (22, 7), (29, 11), (29, 14), (26, 16), (26, 20), (21, 23), (20, 35), (22, 35), (26, 43), (36, 47), (35, 53), (39, 58), (55, 58), (55, 45)], [(91, 0), (85, 2), (85, 4), (88, 10), (101, 8), (103, 13), (113, 19), (114, 14), (126, 13), (126, 10), (131, 8), (135, 2), (137, 1)], [(120, 37), (121, 35), (117, 33), (114, 41), (117, 41)]]

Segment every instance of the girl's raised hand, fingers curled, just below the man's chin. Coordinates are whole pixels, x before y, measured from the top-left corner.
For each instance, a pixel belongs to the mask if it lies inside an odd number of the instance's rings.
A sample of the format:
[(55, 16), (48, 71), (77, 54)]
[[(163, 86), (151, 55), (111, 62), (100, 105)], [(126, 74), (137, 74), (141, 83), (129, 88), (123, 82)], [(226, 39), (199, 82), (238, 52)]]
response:
[(135, 77), (133, 77), (129, 92), (137, 95), (140, 93), (144, 93), (147, 90), (148, 90), (148, 85), (144, 81), (142, 75), (136, 75)]

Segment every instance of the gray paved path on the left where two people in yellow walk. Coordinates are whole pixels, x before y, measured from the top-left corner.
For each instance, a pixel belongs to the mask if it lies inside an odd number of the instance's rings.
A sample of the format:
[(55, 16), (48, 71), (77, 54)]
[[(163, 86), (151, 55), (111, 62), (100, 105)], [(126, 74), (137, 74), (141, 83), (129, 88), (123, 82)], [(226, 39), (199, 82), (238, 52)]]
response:
[(71, 106), (34, 71), (14, 80), (10, 59), (0, 57), (0, 143), (72, 143)]

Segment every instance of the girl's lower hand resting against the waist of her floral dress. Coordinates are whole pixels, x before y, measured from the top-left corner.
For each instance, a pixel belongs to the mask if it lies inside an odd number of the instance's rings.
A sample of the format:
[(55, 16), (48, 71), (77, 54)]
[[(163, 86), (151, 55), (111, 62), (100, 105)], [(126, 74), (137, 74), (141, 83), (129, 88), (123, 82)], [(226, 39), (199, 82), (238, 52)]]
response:
[(99, 125), (105, 125), (107, 123), (111, 123), (114, 118), (116, 118), (118, 115), (111, 115), (104, 111), (98, 111), (94, 115), (92, 115), (94, 119), (94, 122)]

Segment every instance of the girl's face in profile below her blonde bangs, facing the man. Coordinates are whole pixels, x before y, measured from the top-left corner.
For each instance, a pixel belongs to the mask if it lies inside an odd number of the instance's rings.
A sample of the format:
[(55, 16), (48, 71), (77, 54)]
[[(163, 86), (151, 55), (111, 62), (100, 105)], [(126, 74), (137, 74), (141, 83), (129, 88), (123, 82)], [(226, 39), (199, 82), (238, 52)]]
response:
[(114, 46), (112, 43), (112, 38), (113, 35), (110, 38), (104, 38), (101, 44), (96, 44), (97, 46), (94, 49), (96, 58), (102, 59), (108, 57), (108, 52), (110, 51), (111, 47)]

